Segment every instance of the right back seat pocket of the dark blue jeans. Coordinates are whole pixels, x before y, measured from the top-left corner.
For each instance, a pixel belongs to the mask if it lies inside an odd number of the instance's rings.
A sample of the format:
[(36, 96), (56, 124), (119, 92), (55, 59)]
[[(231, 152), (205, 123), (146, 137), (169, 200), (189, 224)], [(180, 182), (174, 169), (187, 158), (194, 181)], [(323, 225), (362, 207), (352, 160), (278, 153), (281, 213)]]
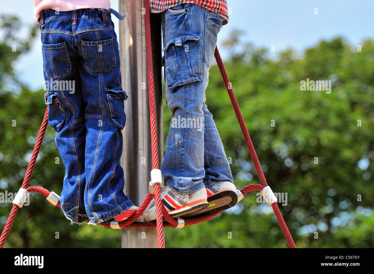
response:
[(85, 68), (89, 72), (109, 72), (116, 68), (113, 38), (102, 41), (81, 41)]

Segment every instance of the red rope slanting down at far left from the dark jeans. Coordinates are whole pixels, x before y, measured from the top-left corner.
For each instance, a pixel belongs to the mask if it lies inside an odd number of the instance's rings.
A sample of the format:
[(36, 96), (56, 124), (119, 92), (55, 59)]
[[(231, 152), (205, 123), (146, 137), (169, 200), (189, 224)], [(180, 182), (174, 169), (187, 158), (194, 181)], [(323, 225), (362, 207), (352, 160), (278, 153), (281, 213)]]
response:
[[(26, 175), (22, 183), (22, 188), (27, 188), (28, 184), (30, 183), (31, 175), (33, 174), (36, 158), (38, 157), (40, 146), (42, 145), (42, 141), (43, 141), (44, 133), (46, 132), (47, 124), (48, 124), (48, 106), (44, 114), (42, 126), (40, 126), (38, 137), (36, 138), (33, 154), (31, 155), (30, 162), (28, 163)], [(10, 211), (9, 217), (5, 223), (3, 233), (1, 233), (0, 248), (3, 248), (4, 246), (4, 243), (5, 243), (6, 238), (8, 237), (10, 228), (12, 227), (14, 218), (16, 218), (17, 211), (18, 211), (18, 206), (13, 204), (12, 210)]]

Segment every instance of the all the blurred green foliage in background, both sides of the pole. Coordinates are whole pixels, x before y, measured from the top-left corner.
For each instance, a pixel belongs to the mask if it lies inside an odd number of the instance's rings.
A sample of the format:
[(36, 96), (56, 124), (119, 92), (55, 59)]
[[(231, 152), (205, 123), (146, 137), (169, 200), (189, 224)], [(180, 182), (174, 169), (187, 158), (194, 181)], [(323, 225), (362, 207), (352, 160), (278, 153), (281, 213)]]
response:
[[(8, 18), (1, 27), (12, 34), (14, 24), (19, 22)], [(16, 39), (16, 33), (12, 35)], [(274, 192), (287, 194), (287, 205), (279, 206), (296, 245), (374, 247), (374, 42), (363, 41), (358, 52), (338, 37), (321, 41), (303, 56), (290, 49), (270, 59), (266, 49), (243, 43), (241, 35), (234, 31), (223, 45), (231, 52), (226, 69), (267, 182)], [(17, 44), (5, 38), (0, 41), (3, 193), (15, 193), (21, 186), (46, 107), (43, 90), (32, 92), (22, 84), (18, 94), (6, 90), (4, 83), (15, 79), (13, 62), (30, 49), (30, 44), (22, 42), (19, 48), (24, 50), (12, 52), (13, 43)], [(301, 91), (300, 81), (306, 78), (331, 80), (331, 94)], [(235, 184), (237, 188), (258, 184), (216, 66), (211, 67), (209, 81), (207, 105), (232, 159)], [(165, 140), (170, 120), (164, 106)], [(64, 167), (54, 138), (55, 132), (48, 127), (31, 185), (59, 193)], [(166, 246), (286, 247), (271, 207), (257, 203), (257, 194), (247, 194), (237, 206), (201, 224), (182, 230), (166, 228)], [(11, 206), (0, 203), (1, 230)], [(60, 209), (31, 193), (30, 206), (19, 210), (5, 247), (120, 247), (120, 232), (69, 225)]]

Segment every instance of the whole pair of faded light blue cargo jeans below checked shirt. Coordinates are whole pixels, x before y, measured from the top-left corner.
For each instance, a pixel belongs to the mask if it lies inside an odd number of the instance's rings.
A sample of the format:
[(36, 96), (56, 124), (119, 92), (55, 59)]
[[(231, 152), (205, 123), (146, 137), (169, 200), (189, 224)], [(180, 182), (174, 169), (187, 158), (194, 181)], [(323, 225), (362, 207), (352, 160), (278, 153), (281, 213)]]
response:
[(209, 68), (223, 18), (196, 4), (180, 4), (162, 16), (165, 97), (171, 113), (161, 166), (169, 187), (183, 194), (233, 182), (213, 116), (205, 104)]

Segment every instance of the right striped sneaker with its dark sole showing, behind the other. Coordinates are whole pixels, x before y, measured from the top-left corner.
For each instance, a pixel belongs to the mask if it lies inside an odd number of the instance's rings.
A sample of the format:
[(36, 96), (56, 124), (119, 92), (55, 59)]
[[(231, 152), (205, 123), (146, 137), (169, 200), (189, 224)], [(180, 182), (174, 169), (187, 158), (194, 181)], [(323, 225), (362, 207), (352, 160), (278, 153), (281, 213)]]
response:
[(206, 188), (209, 206), (200, 209), (196, 215), (220, 212), (233, 207), (237, 203), (236, 187), (232, 182), (220, 181)]

